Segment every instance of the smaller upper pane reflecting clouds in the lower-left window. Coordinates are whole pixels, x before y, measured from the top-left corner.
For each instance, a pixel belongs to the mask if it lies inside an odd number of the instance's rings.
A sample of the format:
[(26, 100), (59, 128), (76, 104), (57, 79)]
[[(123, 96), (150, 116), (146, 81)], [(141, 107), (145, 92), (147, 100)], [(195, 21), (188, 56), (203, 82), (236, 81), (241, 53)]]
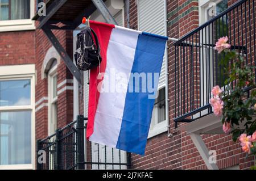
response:
[(0, 81), (0, 106), (26, 106), (30, 102), (30, 80)]

